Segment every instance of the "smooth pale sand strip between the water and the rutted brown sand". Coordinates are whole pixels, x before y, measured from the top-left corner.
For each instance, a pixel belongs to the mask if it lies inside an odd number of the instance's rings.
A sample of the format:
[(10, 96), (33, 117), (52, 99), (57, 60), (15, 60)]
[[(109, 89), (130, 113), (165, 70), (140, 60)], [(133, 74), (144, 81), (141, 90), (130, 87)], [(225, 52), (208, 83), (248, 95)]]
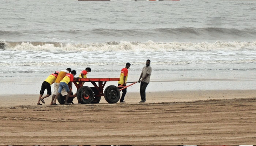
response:
[[(121, 92), (122, 94), (122, 92)], [(19, 106), (19, 105), (36, 105), (39, 94), (8, 94), (0, 95), (1, 106)], [(146, 103), (162, 103), (162, 102), (191, 102), (198, 100), (212, 99), (236, 99), (236, 98), (252, 98), (256, 97), (256, 90), (180, 90), (180, 91), (159, 91), (147, 92)], [(52, 95), (47, 97), (44, 105), (49, 105)], [(140, 101), (139, 92), (127, 92), (125, 96), (126, 103), (134, 104)], [(77, 104), (76, 97), (73, 100)], [(41, 103), (42, 104), (42, 103)], [(59, 104), (57, 102), (57, 104)], [(108, 104), (101, 96), (99, 104)], [(116, 104), (120, 104), (117, 102)], [(122, 103), (123, 104), (123, 103)]]

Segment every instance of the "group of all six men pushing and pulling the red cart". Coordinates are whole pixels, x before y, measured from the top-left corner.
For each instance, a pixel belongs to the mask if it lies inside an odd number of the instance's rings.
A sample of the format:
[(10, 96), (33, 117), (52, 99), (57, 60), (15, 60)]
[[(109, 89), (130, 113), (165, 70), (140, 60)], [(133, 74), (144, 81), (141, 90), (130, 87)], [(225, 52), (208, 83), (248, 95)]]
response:
[[(120, 73), (120, 81), (118, 81), (118, 86), (126, 86), (126, 81), (128, 78), (128, 69), (130, 68), (131, 64), (129, 62), (126, 63), (125, 68), (121, 69)], [(91, 68), (86, 68), (85, 70), (82, 70), (79, 74), (79, 78), (87, 78), (87, 73), (91, 72)], [(146, 66), (143, 67), (142, 72), (140, 74), (138, 82), (140, 82), (140, 98), (141, 101), (139, 103), (146, 102), (146, 88), (150, 81), (152, 68), (150, 66), (150, 60), (147, 59)], [(68, 98), (71, 95), (72, 90), (72, 82), (74, 80), (74, 76), (76, 75), (76, 71), (72, 70), (71, 68), (67, 68), (66, 70), (61, 70), (54, 72), (53, 74), (50, 74), (46, 80), (42, 83), (41, 90), (40, 90), (40, 96), (38, 98), (37, 105), (42, 105), (42, 103), (45, 103), (44, 99), (46, 97), (49, 97), (52, 94), (51, 91), (51, 85), (54, 83), (54, 92), (52, 96), (52, 100), (50, 102), (50, 105), (57, 105), (56, 100), (57, 97), (61, 94), (62, 96), (65, 96), (65, 105), (69, 105)], [(69, 89), (71, 87), (71, 90)], [(121, 88), (121, 87), (120, 87)], [(47, 95), (42, 97), (44, 94), (45, 89), (47, 90)], [(124, 97), (127, 93), (127, 89), (122, 90), (122, 96), (120, 98), (120, 103), (125, 103)]]

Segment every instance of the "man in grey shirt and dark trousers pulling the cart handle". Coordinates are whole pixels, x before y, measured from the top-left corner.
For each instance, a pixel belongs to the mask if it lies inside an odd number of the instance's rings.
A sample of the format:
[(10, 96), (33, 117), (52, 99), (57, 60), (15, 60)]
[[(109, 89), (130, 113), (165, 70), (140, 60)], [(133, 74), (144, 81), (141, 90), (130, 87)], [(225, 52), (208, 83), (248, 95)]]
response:
[(146, 102), (146, 88), (150, 81), (151, 72), (152, 72), (152, 68), (150, 66), (150, 59), (147, 59), (146, 66), (143, 67), (142, 72), (140, 74), (139, 81), (138, 81), (140, 82), (140, 98), (141, 98), (141, 101), (139, 103)]

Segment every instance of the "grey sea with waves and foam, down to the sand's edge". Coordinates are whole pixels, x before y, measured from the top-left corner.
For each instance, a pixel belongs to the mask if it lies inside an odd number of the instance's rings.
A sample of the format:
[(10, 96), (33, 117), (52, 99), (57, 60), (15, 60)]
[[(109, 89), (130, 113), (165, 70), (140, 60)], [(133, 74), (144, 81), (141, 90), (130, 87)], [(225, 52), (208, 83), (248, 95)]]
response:
[(68, 67), (119, 77), (130, 62), (137, 81), (147, 59), (147, 91), (255, 89), (255, 10), (255, 0), (2, 1), (0, 94), (38, 93)]

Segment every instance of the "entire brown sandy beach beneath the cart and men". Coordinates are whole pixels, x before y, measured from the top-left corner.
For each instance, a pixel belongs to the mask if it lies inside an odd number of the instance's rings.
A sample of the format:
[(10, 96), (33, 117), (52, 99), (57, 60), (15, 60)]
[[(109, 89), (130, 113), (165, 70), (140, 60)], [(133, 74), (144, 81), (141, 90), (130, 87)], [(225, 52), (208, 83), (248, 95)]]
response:
[(1, 145), (253, 145), (256, 90), (127, 93), (126, 103), (36, 105), (0, 95)]

